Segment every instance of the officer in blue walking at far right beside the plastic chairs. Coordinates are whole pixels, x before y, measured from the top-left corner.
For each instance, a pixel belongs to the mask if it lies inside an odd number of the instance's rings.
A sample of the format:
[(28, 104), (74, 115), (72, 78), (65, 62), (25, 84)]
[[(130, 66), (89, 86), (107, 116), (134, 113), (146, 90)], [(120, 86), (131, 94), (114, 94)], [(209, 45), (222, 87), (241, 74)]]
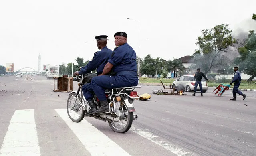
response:
[(241, 75), (240, 72), (238, 71), (238, 67), (235, 66), (234, 68), (234, 77), (232, 77), (232, 81), (230, 83), (230, 85), (232, 85), (232, 83), (234, 82), (234, 87), (233, 87), (233, 99), (230, 100), (236, 100), (236, 94), (242, 95), (244, 98), (243, 100), (246, 98), (246, 94), (243, 94), (241, 91), (238, 91), (238, 88), (240, 86), (241, 83)]

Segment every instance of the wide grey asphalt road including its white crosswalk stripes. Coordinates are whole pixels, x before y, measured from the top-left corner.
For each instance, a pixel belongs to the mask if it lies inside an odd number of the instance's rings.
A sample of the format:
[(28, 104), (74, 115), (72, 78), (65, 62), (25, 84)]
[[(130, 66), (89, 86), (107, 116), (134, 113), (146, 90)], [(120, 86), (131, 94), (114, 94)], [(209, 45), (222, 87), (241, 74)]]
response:
[[(255, 156), (256, 92), (230, 101), (213, 88), (200, 97), (151, 95), (135, 101), (139, 118), (125, 134), (107, 122), (85, 117), (71, 122), (69, 93), (53, 92), (43, 76), (0, 77), (0, 156)], [(74, 89), (77, 88), (74, 82)], [(141, 86), (139, 94), (161, 86)], [(167, 90), (168, 91), (168, 90)], [(109, 154), (111, 153), (111, 154)]]

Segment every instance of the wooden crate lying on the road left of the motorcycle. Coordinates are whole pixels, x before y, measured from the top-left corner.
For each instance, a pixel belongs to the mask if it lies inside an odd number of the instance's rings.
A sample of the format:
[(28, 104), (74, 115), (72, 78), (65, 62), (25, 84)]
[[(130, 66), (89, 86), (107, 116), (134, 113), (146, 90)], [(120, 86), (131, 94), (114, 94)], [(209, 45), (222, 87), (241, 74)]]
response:
[(73, 77), (53, 77), (53, 91), (73, 91)]

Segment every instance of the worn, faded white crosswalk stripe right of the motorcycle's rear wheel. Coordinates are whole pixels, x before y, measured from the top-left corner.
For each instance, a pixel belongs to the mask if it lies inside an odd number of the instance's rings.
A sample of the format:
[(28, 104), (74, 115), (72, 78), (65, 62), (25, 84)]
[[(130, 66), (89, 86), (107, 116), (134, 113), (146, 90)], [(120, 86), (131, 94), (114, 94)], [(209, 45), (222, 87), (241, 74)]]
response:
[(177, 156), (193, 156), (193, 154), (184, 151), (182, 148), (175, 147), (170, 142), (157, 140), (158, 136), (155, 136), (154, 134), (152, 134), (150, 132), (140, 130), (138, 128), (135, 128), (134, 126), (131, 126), (131, 130), (133, 132), (139, 134), (143, 138), (146, 138), (146, 139), (154, 142), (155, 144), (165, 148), (166, 150), (169, 150), (170, 152), (176, 154)]

